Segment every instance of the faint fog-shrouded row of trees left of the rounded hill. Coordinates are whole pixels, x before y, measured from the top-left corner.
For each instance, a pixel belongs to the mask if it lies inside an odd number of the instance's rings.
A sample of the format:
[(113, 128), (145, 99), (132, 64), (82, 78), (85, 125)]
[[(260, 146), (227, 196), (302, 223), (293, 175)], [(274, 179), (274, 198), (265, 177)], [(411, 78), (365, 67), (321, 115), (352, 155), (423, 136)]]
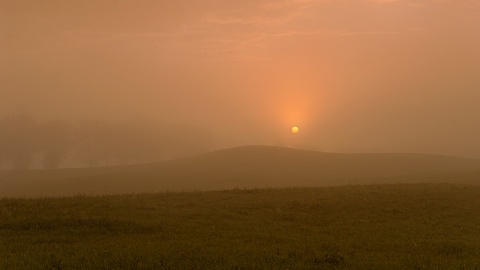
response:
[(0, 167), (54, 169), (69, 160), (83, 166), (154, 162), (211, 150), (213, 139), (193, 126), (153, 123), (36, 121), (29, 115), (0, 119)]

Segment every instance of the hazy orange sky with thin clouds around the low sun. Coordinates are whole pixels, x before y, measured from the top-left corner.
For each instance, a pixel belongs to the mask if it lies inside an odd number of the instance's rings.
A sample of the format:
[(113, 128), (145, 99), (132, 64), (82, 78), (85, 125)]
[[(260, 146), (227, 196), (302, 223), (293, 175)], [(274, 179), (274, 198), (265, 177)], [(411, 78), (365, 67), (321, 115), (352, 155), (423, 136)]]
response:
[(0, 114), (19, 112), (480, 158), (480, 1), (0, 0)]

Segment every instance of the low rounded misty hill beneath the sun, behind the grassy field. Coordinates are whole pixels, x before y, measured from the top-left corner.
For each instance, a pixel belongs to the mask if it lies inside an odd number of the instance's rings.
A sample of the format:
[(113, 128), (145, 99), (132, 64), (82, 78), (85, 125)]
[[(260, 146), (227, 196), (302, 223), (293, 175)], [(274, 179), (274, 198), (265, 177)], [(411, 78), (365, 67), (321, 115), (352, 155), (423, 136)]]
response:
[(480, 160), (426, 154), (338, 154), (244, 146), (153, 164), (0, 172), (0, 196), (66, 196), (232, 188), (480, 181)]

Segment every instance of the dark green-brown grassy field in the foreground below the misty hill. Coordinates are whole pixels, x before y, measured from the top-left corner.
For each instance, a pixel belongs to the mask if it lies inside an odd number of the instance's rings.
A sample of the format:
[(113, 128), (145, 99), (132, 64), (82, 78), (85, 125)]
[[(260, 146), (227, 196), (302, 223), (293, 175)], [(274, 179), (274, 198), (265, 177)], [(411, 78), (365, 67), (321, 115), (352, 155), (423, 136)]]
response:
[(480, 269), (480, 187), (0, 200), (0, 269)]

